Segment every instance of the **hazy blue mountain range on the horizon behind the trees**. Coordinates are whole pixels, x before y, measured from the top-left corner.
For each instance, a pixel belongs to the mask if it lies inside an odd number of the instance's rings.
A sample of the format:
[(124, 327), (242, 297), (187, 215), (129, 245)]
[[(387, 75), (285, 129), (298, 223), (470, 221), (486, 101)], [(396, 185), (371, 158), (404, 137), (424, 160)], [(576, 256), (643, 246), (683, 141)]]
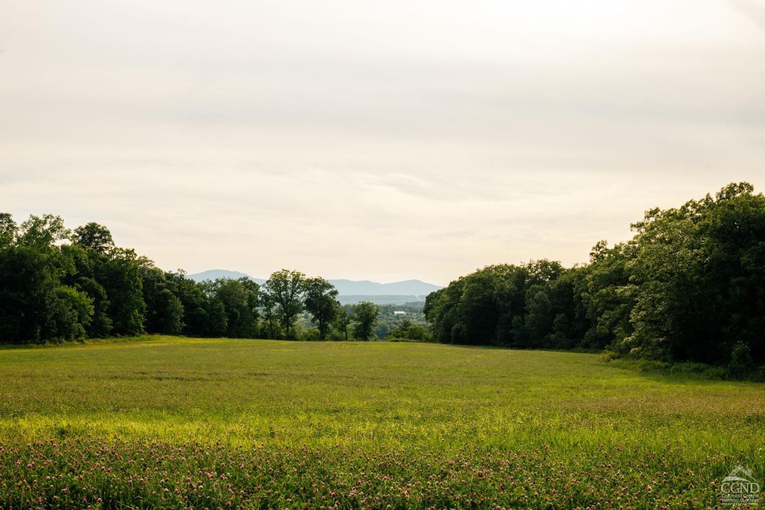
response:
[[(201, 273), (187, 274), (187, 278), (195, 281), (214, 280), (216, 278), (250, 278), (259, 284), (265, 282), (262, 278), (253, 278), (249, 274), (239, 271), (226, 271), (225, 269), (210, 269)], [(369, 280), (330, 280), (341, 296), (408, 296), (423, 297), (432, 291), (442, 288), (440, 285), (428, 284), (419, 280), (394, 281), (390, 284), (380, 284)], [(415, 300), (415, 299), (412, 299)]]

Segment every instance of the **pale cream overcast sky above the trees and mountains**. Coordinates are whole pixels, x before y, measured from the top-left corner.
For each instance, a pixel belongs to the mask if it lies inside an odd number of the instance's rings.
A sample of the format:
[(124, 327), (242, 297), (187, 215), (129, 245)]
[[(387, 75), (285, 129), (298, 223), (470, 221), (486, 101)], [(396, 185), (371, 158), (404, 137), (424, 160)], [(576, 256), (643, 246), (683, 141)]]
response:
[(765, 0), (0, 0), (0, 210), (446, 284), (765, 190)]

